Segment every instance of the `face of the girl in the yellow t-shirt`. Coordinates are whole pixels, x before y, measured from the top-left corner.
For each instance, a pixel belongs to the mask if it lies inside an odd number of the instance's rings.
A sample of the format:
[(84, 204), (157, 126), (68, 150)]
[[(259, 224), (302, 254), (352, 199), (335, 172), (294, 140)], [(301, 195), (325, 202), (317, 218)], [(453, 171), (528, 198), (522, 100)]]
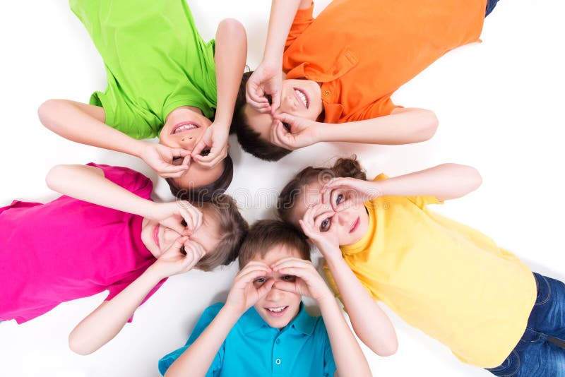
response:
[(302, 195), (292, 210), (292, 222), (299, 226), (298, 220), (306, 210), (314, 205), (314, 224), (319, 232), (336, 232), (340, 246), (355, 244), (369, 229), (369, 214), (363, 203), (357, 203), (355, 193), (336, 188), (331, 192), (328, 203), (322, 203), (320, 189), (322, 184), (314, 182), (304, 187)]

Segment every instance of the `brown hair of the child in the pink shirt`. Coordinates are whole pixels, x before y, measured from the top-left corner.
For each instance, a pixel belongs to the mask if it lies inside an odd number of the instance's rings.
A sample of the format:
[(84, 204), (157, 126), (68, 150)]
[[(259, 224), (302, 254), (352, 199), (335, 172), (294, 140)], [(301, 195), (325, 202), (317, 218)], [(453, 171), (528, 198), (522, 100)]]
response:
[(237, 258), (239, 248), (249, 231), (249, 225), (239, 213), (237, 204), (229, 195), (215, 195), (210, 201), (201, 203), (206, 215), (217, 222), (220, 241), (213, 252), (207, 253), (196, 263), (196, 268), (211, 271), (219, 265), (229, 265)]

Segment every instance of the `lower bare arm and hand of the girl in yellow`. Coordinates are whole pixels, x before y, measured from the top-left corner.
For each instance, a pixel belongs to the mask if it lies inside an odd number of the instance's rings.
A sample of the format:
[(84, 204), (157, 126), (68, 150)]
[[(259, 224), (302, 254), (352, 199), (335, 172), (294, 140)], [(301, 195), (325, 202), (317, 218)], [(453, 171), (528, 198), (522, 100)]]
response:
[[(349, 313), (353, 330), (359, 339), (376, 354), (390, 356), (398, 348), (398, 340), (391, 320), (343, 260), (338, 246), (338, 236), (335, 233), (337, 228), (320, 232), (320, 224), (314, 223), (313, 215), (319, 205), (307, 210), (304, 218), (299, 221), (300, 226), (326, 259), (343, 304)], [(319, 220), (321, 221), (323, 219)], [(328, 325), (328, 329), (329, 327)]]

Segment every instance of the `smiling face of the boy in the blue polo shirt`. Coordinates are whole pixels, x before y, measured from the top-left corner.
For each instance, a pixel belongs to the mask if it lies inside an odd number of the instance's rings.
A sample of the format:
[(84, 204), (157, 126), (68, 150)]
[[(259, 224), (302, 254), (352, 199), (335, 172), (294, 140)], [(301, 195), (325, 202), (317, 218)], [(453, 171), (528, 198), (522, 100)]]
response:
[[(267, 251), (266, 255), (261, 258), (257, 253), (251, 261), (258, 261), (272, 265), (283, 258), (302, 258), (300, 253), (295, 249), (289, 249), (285, 245), (275, 246), (273, 249)], [(263, 277), (256, 279), (253, 284), (255, 287), (261, 287), (268, 279), (273, 279), (275, 282), (278, 280), (293, 281), (295, 277), (292, 275), (281, 275), (280, 273), (270, 273)], [(290, 323), (298, 314), (300, 309), (300, 301), (302, 296), (296, 293), (286, 292), (275, 287), (263, 296), (254, 305), (255, 310), (259, 316), (272, 328), (284, 328)]]

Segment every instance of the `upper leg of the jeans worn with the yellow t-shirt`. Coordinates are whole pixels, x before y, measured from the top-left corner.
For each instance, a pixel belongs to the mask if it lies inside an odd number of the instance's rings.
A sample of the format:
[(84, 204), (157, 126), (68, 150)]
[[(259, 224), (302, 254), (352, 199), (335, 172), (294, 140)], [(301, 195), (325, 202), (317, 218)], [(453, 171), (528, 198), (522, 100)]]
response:
[(534, 276), (537, 299), (528, 319), (528, 327), (565, 340), (565, 284), (537, 273)]

